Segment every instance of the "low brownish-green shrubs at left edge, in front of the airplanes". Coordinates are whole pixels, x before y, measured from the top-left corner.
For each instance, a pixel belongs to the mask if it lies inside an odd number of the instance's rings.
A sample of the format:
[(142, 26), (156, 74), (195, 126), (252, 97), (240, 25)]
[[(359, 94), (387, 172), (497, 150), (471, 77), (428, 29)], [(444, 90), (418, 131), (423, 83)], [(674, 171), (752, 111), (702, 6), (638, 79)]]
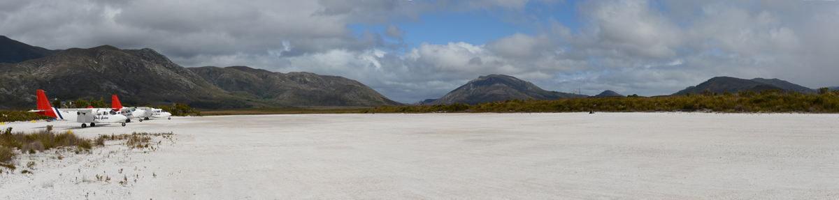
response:
[(13, 151), (17, 148), (23, 153), (34, 153), (52, 148), (65, 146), (76, 147), (76, 152), (89, 150), (93, 146), (90, 139), (83, 139), (70, 133), (55, 133), (51, 128), (32, 133), (12, 132), (8, 127), (0, 134), (0, 162), (8, 164), (17, 154)]

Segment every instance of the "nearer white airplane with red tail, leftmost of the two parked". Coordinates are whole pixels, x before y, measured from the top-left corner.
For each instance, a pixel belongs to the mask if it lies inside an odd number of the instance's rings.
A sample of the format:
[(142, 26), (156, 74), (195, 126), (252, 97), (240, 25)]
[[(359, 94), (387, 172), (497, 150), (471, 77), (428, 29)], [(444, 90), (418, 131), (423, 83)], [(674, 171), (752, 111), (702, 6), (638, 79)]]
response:
[(82, 109), (57, 109), (50, 106), (47, 101), (47, 96), (44, 95), (44, 90), (38, 90), (38, 110), (29, 110), (29, 112), (37, 113), (38, 115), (46, 115), (55, 117), (60, 121), (76, 121), (81, 123), (81, 127), (87, 127), (85, 123), (91, 123), (91, 127), (96, 126), (96, 123), (122, 123), (125, 126), (125, 120), (128, 119), (123, 115), (117, 115), (117, 112), (111, 109), (101, 108), (82, 108)]

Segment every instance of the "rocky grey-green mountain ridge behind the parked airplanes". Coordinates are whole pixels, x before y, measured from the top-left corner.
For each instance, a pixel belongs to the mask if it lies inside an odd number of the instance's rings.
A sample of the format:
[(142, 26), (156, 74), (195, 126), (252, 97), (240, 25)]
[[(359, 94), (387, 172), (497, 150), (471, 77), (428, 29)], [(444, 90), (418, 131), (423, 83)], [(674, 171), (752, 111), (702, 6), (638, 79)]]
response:
[[(0, 52), (32, 49), (38, 48), (15, 44), (0, 47)], [(43, 57), (0, 63), (0, 109), (31, 108), (35, 90), (45, 90), (48, 98), (65, 101), (118, 95), (127, 105), (404, 105), (340, 76), (282, 74), (241, 66), (184, 68), (153, 49), (103, 45), (38, 56)]]

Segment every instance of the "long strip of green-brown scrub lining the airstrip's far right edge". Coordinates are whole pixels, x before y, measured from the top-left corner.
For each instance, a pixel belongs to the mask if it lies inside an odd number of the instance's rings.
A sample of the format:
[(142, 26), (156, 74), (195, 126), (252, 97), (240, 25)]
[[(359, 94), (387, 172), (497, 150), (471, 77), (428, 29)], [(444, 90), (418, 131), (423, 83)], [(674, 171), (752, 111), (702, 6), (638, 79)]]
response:
[(699, 95), (663, 97), (591, 97), (571, 100), (505, 100), (477, 105), (379, 106), (365, 113), (430, 112), (805, 112), (839, 113), (839, 90), (827, 88), (817, 93), (801, 94), (781, 90), (751, 90), (722, 94), (706, 91)]

